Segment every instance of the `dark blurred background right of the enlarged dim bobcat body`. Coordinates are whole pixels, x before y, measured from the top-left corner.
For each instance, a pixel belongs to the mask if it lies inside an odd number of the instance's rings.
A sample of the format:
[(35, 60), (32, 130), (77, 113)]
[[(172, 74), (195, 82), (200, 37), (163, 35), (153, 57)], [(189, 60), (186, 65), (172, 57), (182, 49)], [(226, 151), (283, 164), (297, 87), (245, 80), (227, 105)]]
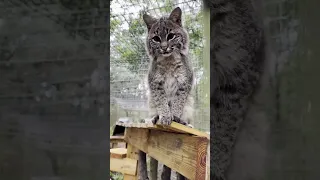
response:
[(251, 2), (267, 27), (270, 77), (239, 132), (229, 179), (320, 179), (320, 1)]

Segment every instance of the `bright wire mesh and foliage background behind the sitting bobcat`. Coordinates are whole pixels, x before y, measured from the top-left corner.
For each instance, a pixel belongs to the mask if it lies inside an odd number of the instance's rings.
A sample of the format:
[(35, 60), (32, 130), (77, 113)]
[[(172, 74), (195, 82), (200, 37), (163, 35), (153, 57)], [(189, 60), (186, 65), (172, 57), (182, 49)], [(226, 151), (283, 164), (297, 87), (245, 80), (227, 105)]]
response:
[[(210, 127), (210, 63), (204, 57), (204, 13), (198, 0), (113, 0), (110, 17), (110, 125), (119, 118), (147, 118), (146, 76), (149, 57), (145, 50), (147, 28), (144, 13), (154, 17), (182, 9), (184, 28), (190, 38), (189, 58), (195, 74), (195, 128)], [(207, 36), (208, 37), (208, 36)], [(208, 53), (207, 53), (208, 54)]]

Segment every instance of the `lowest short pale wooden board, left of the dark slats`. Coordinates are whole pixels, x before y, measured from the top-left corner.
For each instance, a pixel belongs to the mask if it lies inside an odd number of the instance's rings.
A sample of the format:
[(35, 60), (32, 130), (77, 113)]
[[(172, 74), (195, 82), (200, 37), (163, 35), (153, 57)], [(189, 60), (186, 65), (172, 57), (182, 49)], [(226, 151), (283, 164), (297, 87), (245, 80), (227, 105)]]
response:
[(130, 158), (110, 158), (110, 171), (135, 175), (137, 173), (137, 160)]

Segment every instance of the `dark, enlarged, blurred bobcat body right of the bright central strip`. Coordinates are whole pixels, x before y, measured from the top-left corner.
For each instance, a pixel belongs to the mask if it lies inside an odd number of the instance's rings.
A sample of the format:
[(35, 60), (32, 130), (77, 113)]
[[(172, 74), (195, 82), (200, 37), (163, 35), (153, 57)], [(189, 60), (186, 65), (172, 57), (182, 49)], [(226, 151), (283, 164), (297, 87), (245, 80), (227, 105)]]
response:
[(265, 33), (251, 0), (207, 0), (211, 43), (210, 179), (225, 180), (237, 132), (259, 88)]

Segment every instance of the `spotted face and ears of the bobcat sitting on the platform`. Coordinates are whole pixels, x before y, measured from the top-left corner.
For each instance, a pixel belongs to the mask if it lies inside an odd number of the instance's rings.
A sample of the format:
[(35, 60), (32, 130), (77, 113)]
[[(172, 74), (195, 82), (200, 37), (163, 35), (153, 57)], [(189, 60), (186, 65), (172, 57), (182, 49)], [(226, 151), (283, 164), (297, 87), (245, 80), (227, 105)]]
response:
[(148, 27), (147, 50), (151, 56), (168, 57), (172, 53), (186, 54), (188, 36), (181, 25), (181, 9), (174, 9), (169, 17), (155, 19), (144, 15)]

